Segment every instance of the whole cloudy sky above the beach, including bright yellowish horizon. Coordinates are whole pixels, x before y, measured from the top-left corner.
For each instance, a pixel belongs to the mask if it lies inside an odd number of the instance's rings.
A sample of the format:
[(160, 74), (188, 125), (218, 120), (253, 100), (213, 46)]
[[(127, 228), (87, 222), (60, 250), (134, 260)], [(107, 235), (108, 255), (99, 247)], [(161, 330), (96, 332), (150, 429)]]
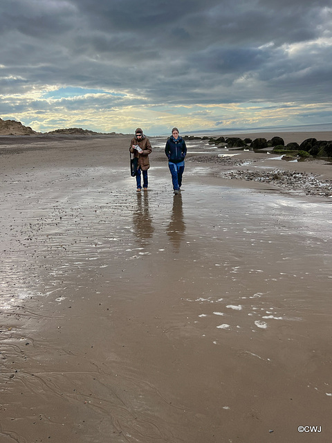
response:
[(1, 0), (0, 118), (169, 134), (332, 123), (331, 0)]

